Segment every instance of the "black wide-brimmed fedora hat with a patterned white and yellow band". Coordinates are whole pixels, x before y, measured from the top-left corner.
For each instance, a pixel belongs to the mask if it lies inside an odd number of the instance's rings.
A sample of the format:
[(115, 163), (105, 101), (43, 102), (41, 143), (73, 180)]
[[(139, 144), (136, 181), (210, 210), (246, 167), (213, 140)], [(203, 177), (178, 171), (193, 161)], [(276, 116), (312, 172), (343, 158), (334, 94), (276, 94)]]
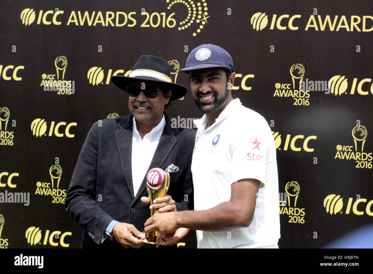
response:
[(151, 81), (161, 84), (165, 88), (172, 88), (170, 100), (176, 100), (183, 97), (187, 89), (183, 85), (175, 84), (171, 79), (170, 65), (166, 60), (153, 56), (142, 55), (137, 60), (132, 71), (127, 76), (112, 76), (112, 82), (120, 89), (126, 91), (126, 86), (131, 85), (135, 81)]

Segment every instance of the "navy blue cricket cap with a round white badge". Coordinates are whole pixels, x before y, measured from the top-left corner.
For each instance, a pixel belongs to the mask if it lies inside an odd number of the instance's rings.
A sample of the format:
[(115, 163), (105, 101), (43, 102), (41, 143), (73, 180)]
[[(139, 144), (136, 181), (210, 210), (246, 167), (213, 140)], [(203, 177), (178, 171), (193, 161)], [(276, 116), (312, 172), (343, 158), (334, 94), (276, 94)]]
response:
[(186, 59), (185, 68), (181, 71), (189, 73), (190, 70), (209, 69), (221, 67), (233, 72), (233, 60), (223, 48), (213, 44), (203, 44), (194, 48)]

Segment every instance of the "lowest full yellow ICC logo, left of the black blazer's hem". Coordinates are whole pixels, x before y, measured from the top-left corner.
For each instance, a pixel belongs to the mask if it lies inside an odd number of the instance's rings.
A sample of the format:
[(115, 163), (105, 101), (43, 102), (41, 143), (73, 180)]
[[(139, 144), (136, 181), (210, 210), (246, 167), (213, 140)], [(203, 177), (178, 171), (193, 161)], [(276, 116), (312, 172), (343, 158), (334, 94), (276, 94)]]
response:
[[(49, 243), (50, 246), (62, 246), (68, 248), (69, 243), (66, 243), (66, 236), (71, 236), (71, 232), (62, 233), (59, 230), (53, 231), (50, 233), (50, 230), (46, 230), (44, 233), (43, 245)], [(43, 238), (43, 231), (39, 227), (31, 226), (26, 230), (25, 237), (27, 243), (31, 246), (41, 245), (41, 239)]]

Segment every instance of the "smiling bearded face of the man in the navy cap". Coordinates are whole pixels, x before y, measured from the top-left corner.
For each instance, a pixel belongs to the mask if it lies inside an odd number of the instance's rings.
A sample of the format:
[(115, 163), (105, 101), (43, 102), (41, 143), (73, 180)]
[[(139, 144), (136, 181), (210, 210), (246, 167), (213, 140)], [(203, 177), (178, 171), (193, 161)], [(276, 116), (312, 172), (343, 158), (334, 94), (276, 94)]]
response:
[(212, 113), (225, 106), (230, 94), (228, 83), (231, 78), (227, 83), (224, 69), (192, 70), (189, 79), (194, 102), (201, 111)]

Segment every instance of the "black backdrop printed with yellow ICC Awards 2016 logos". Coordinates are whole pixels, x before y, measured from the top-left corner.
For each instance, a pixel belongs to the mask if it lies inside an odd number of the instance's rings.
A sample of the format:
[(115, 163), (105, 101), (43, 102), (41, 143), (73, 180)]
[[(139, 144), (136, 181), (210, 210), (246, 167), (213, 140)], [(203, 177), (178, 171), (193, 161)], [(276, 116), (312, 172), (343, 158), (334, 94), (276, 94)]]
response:
[[(107, 79), (152, 54), (189, 88), (178, 64), (205, 43), (231, 54), (233, 97), (272, 128), (279, 247), (320, 248), (372, 222), (372, 1), (0, 4), (0, 193), (29, 193), (28, 206), (0, 203), (0, 247), (79, 247), (82, 229), (63, 197), (80, 149), (95, 121), (129, 113), (128, 95)], [(48, 80), (74, 89), (46, 90)], [(329, 91), (316, 82), (329, 80)], [(167, 113), (203, 115), (190, 93)]]

